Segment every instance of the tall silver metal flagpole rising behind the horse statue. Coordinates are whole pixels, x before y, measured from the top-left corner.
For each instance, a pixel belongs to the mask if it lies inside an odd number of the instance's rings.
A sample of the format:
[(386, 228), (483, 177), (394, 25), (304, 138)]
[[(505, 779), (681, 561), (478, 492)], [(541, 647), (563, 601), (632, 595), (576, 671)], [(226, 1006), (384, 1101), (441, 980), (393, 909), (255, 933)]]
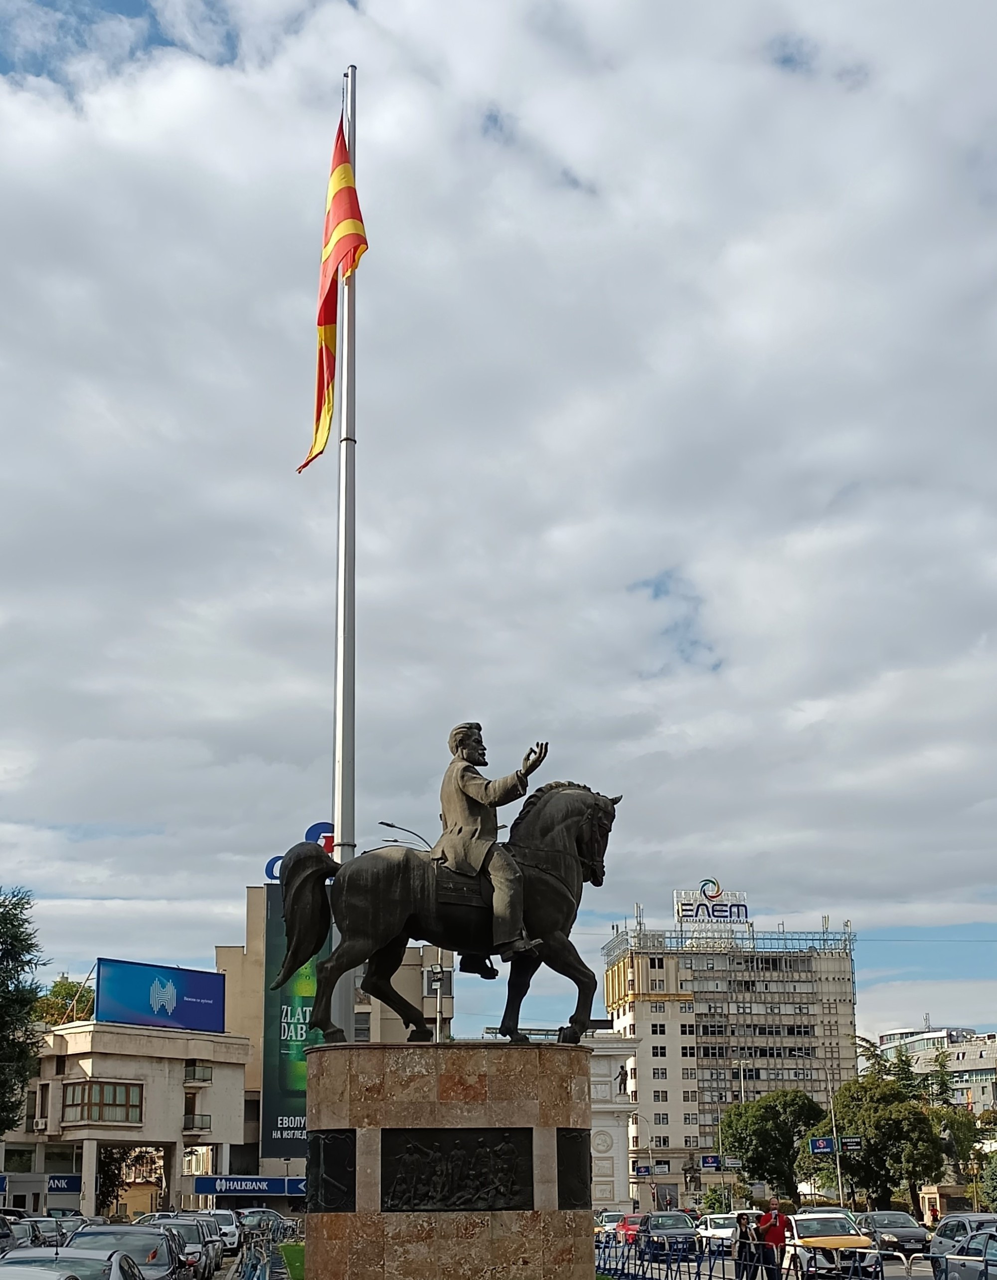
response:
[[(353, 173), (356, 156), (357, 69), (343, 76), (343, 115), (347, 150)], [(335, 588), (335, 749), (333, 768), (333, 856), (339, 863), (356, 854), (356, 271), (339, 284), (337, 325), (339, 390), (339, 520)], [(337, 984), (333, 1019), (353, 1039), (353, 974)]]

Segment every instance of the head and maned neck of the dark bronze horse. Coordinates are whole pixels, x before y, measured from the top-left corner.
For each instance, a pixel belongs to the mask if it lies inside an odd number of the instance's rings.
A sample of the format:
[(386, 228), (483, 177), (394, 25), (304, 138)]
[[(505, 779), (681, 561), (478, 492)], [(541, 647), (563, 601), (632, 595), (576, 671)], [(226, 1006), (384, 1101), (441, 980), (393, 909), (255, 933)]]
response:
[(605, 847), (622, 799), (599, 795), (580, 782), (548, 782), (526, 800), (509, 831), (509, 842), (571, 845), (582, 879), (598, 887), (605, 879)]

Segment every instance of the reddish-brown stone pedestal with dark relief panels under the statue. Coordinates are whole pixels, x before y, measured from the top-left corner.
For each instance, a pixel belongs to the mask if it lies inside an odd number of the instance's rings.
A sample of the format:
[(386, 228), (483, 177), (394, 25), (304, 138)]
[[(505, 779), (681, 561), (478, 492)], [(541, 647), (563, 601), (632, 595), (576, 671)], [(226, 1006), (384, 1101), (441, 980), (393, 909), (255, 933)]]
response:
[(306, 1280), (593, 1280), (590, 1052), (308, 1050)]

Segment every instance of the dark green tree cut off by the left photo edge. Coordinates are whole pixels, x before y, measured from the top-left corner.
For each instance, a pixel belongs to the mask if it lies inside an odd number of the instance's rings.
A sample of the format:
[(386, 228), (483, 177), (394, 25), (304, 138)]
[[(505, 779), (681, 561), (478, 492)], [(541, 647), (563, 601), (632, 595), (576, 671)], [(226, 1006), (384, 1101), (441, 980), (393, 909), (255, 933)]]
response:
[(32, 1025), (38, 987), (32, 974), (41, 963), (41, 948), (31, 923), (31, 901), (26, 888), (0, 887), (0, 1133), (19, 1123), (38, 1059)]

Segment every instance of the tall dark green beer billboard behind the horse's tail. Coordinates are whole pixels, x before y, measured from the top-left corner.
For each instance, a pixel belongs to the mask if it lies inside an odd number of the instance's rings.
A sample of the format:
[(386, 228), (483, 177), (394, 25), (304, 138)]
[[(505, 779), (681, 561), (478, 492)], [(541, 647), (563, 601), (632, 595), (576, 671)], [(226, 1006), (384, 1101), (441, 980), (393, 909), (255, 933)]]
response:
[(285, 936), (280, 886), (266, 886), (264, 940), (264, 1050), (260, 1097), (260, 1156), (264, 1160), (303, 1160), (308, 1153), (305, 1121), (305, 1050), (321, 1044), (321, 1032), (310, 1032), (315, 1002), (315, 965), (329, 955), (326, 942), (279, 991), (270, 984), (284, 963)]

